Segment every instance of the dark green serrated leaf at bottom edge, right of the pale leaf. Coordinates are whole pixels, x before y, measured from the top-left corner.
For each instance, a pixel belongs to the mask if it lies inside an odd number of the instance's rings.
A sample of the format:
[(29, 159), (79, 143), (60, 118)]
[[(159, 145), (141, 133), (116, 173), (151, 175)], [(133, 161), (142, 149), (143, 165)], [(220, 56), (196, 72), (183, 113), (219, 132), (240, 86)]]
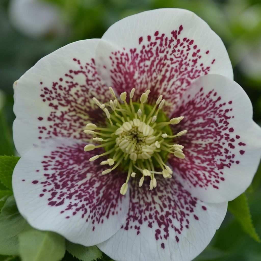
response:
[(66, 241), (66, 250), (74, 257), (83, 261), (97, 260), (102, 257), (102, 251), (97, 246), (82, 246)]

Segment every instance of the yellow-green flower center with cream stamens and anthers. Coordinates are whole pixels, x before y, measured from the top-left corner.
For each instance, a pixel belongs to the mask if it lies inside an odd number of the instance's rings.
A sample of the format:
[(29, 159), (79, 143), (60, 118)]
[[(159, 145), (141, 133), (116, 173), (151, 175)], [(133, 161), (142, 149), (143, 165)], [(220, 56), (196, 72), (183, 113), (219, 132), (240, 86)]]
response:
[[(84, 133), (97, 135), (93, 141), (102, 144), (87, 144), (84, 151), (104, 147), (105, 152), (95, 155), (89, 159), (94, 161), (106, 156), (107, 159), (100, 164), (112, 166), (104, 171), (102, 175), (110, 173), (117, 167), (126, 172), (127, 179), (123, 183), (120, 193), (126, 194), (130, 177), (134, 178), (136, 172), (140, 176), (139, 187), (143, 185), (147, 176), (150, 178), (150, 189), (157, 186), (156, 175), (170, 178), (173, 171), (166, 165), (169, 154), (184, 159), (183, 146), (173, 142), (173, 138), (186, 134), (181, 131), (173, 135), (170, 124), (178, 124), (183, 116), (169, 119), (162, 111), (165, 100), (160, 95), (154, 106), (146, 104), (150, 90), (141, 94), (140, 102), (133, 102), (135, 89), (129, 94), (129, 104), (126, 102), (127, 93), (122, 92), (120, 103), (114, 90), (109, 87), (114, 98), (106, 104), (101, 104), (95, 97), (94, 102), (102, 109), (108, 118), (106, 127), (97, 127), (94, 123), (88, 123)], [(111, 109), (111, 113), (106, 108)], [(137, 176), (138, 176), (137, 175)]]

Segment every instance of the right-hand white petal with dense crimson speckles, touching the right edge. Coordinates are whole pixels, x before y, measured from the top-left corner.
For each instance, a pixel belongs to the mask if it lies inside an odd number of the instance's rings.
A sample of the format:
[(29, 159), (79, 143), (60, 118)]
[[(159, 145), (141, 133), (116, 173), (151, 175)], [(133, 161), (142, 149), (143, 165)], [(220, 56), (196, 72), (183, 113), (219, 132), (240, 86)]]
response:
[(205, 202), (236, 198), (251, 184), (261, 156), (261, 128), (252, 120), (244, 90), (221, 75), (199, 78), (183, 95), (173, 115), (184, 120), (176, 131), (185, 159), (169, 161), (174, 175)]

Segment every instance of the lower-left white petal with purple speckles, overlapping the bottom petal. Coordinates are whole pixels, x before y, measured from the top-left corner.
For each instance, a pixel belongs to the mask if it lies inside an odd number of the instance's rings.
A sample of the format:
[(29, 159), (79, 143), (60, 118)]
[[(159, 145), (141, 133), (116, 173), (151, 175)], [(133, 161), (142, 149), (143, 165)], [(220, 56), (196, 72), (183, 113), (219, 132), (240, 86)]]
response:
[(14, 169), (13, 190), (19, 212), (32, 227), (92, 246), (120, 229), (129, 194), (120, 194), (126, 177), (101, 175), (104, 166), (88, 161), (97, 149), (84, 152), (83, 147), (61, 138), (31, 147)]

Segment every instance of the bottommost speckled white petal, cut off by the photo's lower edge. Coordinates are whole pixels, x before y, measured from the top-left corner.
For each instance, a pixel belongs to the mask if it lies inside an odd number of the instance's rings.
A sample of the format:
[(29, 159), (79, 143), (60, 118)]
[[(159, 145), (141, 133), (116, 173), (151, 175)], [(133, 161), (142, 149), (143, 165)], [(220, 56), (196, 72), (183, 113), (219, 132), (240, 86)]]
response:
[(157, 179), (131, 188), (126, 223), (98, 247), (121, 261), (190, 261), (210, 242), (227, 211), (227, 203), (203, 203), (180, 183)]

